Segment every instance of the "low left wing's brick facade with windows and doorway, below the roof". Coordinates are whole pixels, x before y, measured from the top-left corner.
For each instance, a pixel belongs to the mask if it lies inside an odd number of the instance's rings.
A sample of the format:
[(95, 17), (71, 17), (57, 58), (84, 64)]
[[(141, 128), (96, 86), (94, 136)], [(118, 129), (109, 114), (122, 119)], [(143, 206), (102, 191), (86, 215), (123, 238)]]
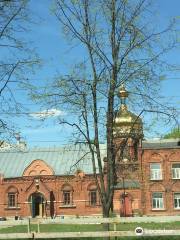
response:
[[(53, 217), (100, 214), (98, 195), (94, 196), (96, 204), (91, 202), (92, 191), (97, 192), (90, 175), (1, 178), (0, 216)], [(9, 202), (9, 194), (15, 196), (15, 199), (11, 199), (12, 202)]]

